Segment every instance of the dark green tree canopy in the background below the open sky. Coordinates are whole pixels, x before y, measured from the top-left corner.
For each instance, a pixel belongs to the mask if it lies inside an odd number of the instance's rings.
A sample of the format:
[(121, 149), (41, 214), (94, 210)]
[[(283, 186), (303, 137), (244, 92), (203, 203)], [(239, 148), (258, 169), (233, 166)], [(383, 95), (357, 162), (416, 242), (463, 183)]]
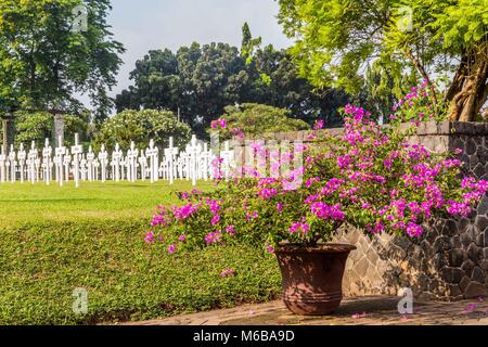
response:
[[(299, 77), (292, 56), (272, 46), (260, 47), (248, 25), (241, 50), (226, 43), (150, 51), (136, 63), (133, 86), (116, 97), (117, 111), (156, 108), (180, 111), (181, 119), (202, 136), (227, 105), (261, 103), (291, 111), (290, 116), (312, 124), (325, 118), (341, 123), (337, 107), (348, 98), (342, 90), (314, 92)], [(266, 77), (266, 78), (264, 78)]]

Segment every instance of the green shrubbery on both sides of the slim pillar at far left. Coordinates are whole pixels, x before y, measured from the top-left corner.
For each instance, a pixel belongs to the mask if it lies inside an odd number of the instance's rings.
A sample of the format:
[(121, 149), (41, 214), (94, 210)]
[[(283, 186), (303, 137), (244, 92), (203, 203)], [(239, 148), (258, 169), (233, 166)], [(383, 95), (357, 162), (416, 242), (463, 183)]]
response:
[[(85, 117), (88, 118), (88, 117)], [(79, 116), (65, 115), (65, 133), (79, 133), (81, 141), (89, 140), (89, 124), (87, 119)], [(21, 143), (30, 146), (31, 141), (36, 142), (38, 149), (44, 146), (44, 140), (53, 139), (54, 117), (47, 112), (17, 113), (15, 117), (15, 145)], [(73, 145), (74, 139), (66, 137), (65, 145)], [(51, 142), (52, 144), (53, 142)]]

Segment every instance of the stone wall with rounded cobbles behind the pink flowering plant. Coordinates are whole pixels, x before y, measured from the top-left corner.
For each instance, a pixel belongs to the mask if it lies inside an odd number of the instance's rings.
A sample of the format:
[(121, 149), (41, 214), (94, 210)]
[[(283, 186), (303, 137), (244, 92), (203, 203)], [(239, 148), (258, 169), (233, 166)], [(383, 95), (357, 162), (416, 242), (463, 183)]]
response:
[[(342, 129), (330, 131), (339, 134)], [(273, 138), (307, 142), (307, 132), (278, 133)], [(488, 124), (424, 123), (411, 141), (436, 153), (461, 149), (465, 174), (488, 179)], [(414, 241), (386, 234), (369, 237), (360, 230), (343, 227), (335, 241), (357, 246), (346, 266), (345, 295), (396, 295), (400, 287), (412, 288), (419, 297), (445, 300), (488, 295), (487, 211), (485, 196), (468, 218), (438, 219)]]

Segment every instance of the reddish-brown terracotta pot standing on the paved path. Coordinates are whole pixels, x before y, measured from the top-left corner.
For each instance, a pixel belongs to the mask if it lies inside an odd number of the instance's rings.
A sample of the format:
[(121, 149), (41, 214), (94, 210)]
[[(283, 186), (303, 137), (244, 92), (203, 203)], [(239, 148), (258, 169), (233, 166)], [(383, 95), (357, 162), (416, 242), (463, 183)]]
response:
[(282, 244), (275, 249), (283, 285), (283, 301), (296, 314), (329, 314), (343, 299), (343, 274), (350, 244), (316, 247)]

